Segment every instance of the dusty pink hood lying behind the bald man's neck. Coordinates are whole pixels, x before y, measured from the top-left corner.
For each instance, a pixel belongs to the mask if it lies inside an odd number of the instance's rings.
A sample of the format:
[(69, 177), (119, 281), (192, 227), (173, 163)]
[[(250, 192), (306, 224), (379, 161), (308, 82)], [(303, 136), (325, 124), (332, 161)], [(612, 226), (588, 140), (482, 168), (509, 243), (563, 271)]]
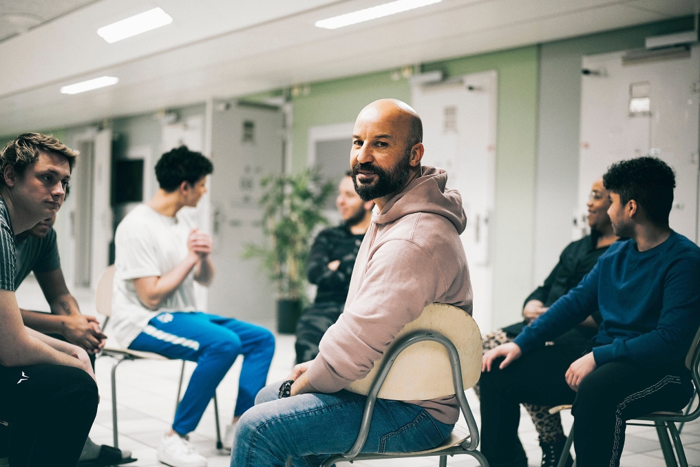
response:
[(387, 224), (408, 214), (430, 212), (449, 219), (461, 234), (467, 225), (462, 197), (457, 190), (446, 189), (446, 185), (447, 171), (427, 165), (421, 167), (421, 176), (391, 198), (374, 222)]

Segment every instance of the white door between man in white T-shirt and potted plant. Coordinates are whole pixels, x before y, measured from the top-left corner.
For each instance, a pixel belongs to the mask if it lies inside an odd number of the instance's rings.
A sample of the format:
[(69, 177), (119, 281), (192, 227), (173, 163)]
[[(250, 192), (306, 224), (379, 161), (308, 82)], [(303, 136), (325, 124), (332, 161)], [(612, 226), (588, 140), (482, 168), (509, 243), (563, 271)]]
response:
[(244, 259), (246, 244), (262, 245), (260, 181), (283, 171), (283, 112), (270, 106), (214, 102), (211, 120), (211, 209), (216, 278), (209, 312), (268, 326), (276, 289), (257, 259)]

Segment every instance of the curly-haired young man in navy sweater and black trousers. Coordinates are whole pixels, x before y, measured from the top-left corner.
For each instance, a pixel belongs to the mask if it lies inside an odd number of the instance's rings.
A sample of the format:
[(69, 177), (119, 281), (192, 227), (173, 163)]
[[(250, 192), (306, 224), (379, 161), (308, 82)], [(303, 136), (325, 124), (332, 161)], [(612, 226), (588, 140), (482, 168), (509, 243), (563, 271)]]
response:
[[(482, 452), (491, 467), (527, 466), (519, 403), (573, 403), (578, 467), (618, 466), (626, 420), (680, 410), (692, 396), (683, 361), (700, 326), (700, 248), (668, 227), (675, 176), (657, 158), (603, 176), (617, 242), (572, 291), (514, 340), (484, 354)], [(545, 347), (596, 309), (589, 344)]]

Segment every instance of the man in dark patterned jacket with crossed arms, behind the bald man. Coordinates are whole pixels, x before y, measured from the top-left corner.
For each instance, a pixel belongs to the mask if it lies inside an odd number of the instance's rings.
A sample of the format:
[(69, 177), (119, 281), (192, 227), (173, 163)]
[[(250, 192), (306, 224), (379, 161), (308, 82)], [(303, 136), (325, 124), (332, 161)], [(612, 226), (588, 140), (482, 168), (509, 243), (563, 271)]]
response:
[(335, 204), (342, 223), (322, 230), (309, 253), (307, 276), (318, 288), (297, 322), (297, 363), (316, 358), (321, 337), (343, 312), (355, 258), (372, 219), (374, 203), (360, 200), (349, 173), (340, 181)]

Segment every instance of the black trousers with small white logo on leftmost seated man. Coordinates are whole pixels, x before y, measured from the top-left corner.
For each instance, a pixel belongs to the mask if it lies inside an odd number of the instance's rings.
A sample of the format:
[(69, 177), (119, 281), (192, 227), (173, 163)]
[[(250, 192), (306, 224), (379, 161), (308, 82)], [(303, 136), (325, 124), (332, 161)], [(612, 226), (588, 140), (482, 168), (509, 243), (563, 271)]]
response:
[(10, 423), (10, 466), (74, 467), (97, 402), (97, 384), (78, 368), (0, 366), (0, 420)]

